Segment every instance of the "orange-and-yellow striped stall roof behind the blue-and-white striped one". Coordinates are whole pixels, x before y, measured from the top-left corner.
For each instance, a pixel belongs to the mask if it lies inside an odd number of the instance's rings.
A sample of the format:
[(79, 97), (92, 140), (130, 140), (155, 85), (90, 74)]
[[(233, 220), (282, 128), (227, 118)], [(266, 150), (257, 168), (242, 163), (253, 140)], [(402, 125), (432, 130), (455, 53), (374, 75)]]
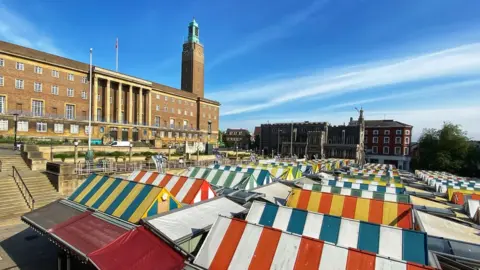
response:
[(287, 206), (404, 229), (413, 228), (413, 206), (407, 203), (294, 188), (288, 197)]

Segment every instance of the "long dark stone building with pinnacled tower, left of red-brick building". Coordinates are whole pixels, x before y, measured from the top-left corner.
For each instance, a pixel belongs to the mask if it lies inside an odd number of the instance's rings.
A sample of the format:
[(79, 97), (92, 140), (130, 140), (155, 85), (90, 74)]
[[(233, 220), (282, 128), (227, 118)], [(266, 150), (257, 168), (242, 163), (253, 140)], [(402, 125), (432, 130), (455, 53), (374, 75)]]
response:
[(261, 149), (265, 154), (290, 153), (313, 158), (349, 158), (365, 161), (363, 110), (356, 123), (332, 126), (327, 122), (261, 125)]

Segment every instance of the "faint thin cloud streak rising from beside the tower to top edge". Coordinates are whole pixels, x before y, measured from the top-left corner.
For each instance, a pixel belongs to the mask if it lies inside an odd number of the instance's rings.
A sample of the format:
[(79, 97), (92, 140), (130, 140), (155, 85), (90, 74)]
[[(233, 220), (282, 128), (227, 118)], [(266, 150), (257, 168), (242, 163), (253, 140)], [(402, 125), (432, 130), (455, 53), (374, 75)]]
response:
[(305, 9), (293, 13), (292, 15), (289, 15), (282, 20), (275, 21), (273, 25), (254, 32), (250, 36), (246, 37), (244, 39), (244, 42), (242, 42), (240, 46), (234, 47), (214, 58), (208, 64), (207, 68), (211, 69), (225, 62), (228, 59), (237, 57), (269, 41), (279, 39), (288, 35), (290, 33), (289, 30), (310, 18), (317, 11), (319, 11), (327, 2), (328, 0), (315, 0)]

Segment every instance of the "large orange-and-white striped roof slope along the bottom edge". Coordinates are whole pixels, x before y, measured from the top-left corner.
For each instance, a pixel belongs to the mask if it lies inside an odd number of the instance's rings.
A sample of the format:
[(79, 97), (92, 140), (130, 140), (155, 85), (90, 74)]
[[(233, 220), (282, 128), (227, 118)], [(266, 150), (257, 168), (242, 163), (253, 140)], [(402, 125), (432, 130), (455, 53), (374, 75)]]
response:
[(220, 216), (194, 264), (206, 269), (432, 269)]

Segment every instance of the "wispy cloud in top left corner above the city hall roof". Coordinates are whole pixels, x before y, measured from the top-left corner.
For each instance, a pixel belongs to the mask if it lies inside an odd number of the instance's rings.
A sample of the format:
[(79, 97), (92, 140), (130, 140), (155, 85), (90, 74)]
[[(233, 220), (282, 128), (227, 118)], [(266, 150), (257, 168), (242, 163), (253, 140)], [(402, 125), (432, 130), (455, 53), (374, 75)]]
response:
[(7, 6), (2, 3), (0, 3), (0, 37), (3, 40), (25, 47), (35, 48), (52, 54), (64, 55), (62, 51), (55, 46), (52, 39), (47, 34), (42, 33), (34, 23), (8, 9)]

